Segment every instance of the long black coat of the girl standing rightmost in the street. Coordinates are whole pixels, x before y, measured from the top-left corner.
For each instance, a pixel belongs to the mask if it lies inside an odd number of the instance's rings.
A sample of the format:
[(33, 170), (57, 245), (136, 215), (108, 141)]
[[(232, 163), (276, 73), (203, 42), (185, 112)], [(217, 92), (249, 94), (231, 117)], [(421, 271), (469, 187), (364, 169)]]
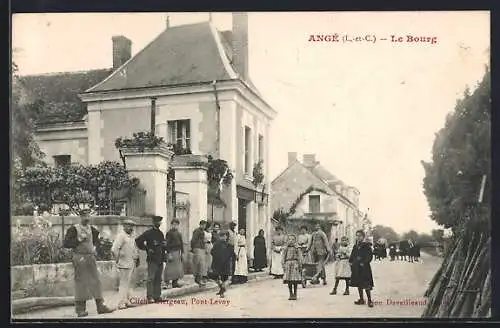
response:
[(351, 252), (349, 262), (351, 263), (351, 287), (359, 287), (371, 290), (374, 286), (370, 262), (373, 259), (373, 251), (368, 243), (357, 243)]

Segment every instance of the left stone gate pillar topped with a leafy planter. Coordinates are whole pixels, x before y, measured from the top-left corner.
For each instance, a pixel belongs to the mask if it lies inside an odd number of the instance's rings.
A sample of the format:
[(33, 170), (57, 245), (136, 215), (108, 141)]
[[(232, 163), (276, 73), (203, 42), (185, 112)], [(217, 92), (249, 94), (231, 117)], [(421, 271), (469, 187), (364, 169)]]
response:
[(130, 175), (139, 178), (140, 186), (146, 190), (146, 213), (163, 217), (160, 230), (165, 233), (170, 220), (167, 217), (167, 173), (173, 152), (162, 145), (144, 150), (123, 148), (122, 153)]

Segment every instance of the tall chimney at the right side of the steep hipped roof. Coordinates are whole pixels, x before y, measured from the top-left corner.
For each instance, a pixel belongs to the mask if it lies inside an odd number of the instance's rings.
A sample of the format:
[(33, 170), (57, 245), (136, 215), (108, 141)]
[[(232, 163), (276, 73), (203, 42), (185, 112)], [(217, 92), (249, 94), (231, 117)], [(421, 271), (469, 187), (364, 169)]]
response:
[(233, 58), (236, 72), (245, 80), (248, 79), (248, 15), (233, 13)]

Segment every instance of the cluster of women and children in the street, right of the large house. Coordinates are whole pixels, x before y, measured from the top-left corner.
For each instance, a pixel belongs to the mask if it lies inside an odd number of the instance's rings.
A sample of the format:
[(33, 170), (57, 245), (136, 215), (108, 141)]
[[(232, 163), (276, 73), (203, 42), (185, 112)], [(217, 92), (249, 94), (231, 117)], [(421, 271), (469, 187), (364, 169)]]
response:
[[(356, 243), (350, 248), (347, 237), (342, 237), (330, 245), (328, 237), (316, 223), (314, 231), (309, 234), (308, 228), (302, 226), (298, 236), (285, 235), (281, 227), (277, 227), (272, 238), (272, 255), (270, 273), (275, 279), (283, 279), (288, 286), (289, 300), (297, 299), (298, 285), (305, 276), (304, 264), (314, 263), (316, 272), (311, 278), (312, 284), (327, 284), (325, 265), (329, 259), (335, 261), (335, 285), (330, 295), (337, 294), (340, 281), (345, 281), (344, 295), (349, 295), (349, 287), (358, 288), (357, 305), (368, 304), (373, 307), (371, 290), (374, 287), (370, 262), (373, 258), (372, 247), (365, 242), (365, 232), (356, 232)], [(364, 295), (366, 294), (367, 301)]]

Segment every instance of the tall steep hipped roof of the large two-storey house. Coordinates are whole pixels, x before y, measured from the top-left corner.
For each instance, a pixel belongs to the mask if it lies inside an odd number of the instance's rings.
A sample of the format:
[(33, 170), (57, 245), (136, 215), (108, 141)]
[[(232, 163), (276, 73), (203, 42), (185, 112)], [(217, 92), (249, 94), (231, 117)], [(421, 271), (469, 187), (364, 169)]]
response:
[[(224, 39), (221, 39), (224, 36)], [(167, 86), (236, 78), (230, 64), (228, 32), (209, 22), (175, 26), (88, 92)]]

